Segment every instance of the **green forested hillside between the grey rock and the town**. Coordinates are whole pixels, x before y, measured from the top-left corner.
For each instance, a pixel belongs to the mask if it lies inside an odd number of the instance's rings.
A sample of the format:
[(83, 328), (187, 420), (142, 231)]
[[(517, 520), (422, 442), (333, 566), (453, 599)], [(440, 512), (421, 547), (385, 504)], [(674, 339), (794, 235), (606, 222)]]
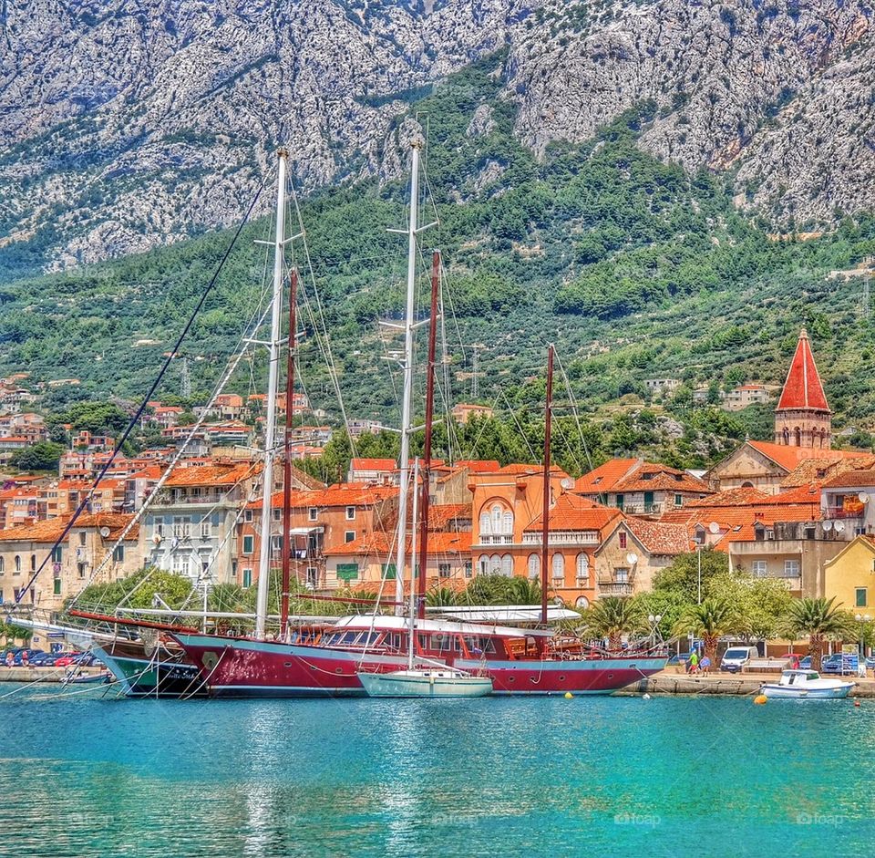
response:
[[(440, 226), (424, 242), (440, 247), (447, 265), (451, 398), (470, 398), (471, 350), (462, 346), (481, 343), (480, 399), (536, 414), (545, 346), (554, 341), (597, 450), (664, 449), (671, 431), (648, 426), (665, 412), (686, 433), (681, 458), (701, 462), (723, 449), (714, 439), (767, 432), (767, 409), (740, 417), (694, 409), (692, 389), (780, 383), (806, 325), (837, 424), (875, 425), (875, 329), (862, 310), (862, 283), (828, 279), (875, 252), (875, 221), (842, 222), (807, 242), (770, 240), (735, 211), (727, 177), (688, 176), (636, 147), (664, 109), (654, 104), (536, 160), (513, 136), (513, 109), (498, 100), (498, 67), (494, 57), (480, 62), (410, 110), (423, 122), (427, 114), (427, 205), (437, 206)], [(381, 341), (376, 321), (403, 304), (405, 240), (386, 228), (405, 222), (405, 192), (404, 182), (363, 181), (303, 205), (346, 407), (356, 417), (389, 421), (395, 413), (393, 370), (382, 359), (392, 344)], [(264, 191), (265, 211), (271, 193)], [(264, 218), (244, 230), (192, 330), (185, 354), (195, 398), (219, 376), (259, 305), (264, 248), (252, 241), (269, 229)], [(230, 240), (230, 232), (211, 233), (0, 285), (0, 371), (81, 379), (48, 393), (50, 408), (70, 398), (138, 398)], [(314, 405), (336, 413), (309, 335), (304, 384)], [(263, 371), (259, 357), (234, 385), (258, 388)], [(651, 377), (685, 385), (671, 401), (651, 402), (643, 386)], [(178, 389), (172, 372), (162, 395)]]

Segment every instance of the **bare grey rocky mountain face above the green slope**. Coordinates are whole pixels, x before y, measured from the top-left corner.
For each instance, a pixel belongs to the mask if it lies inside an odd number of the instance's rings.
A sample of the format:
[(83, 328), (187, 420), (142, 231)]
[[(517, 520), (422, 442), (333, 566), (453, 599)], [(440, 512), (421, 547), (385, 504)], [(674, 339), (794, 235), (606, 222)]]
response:
[[(499, 49), (499, 98), (539, 155), (653, 101), (639, 145), (730, 171), (737, 205), (782, 228), (875, 199), (861, 0), (23, 0), (0, 14), (6, 280), (235, 221), (279, 142), (304, 190), (392, 178), (396, 118)], [(502, 165), (483, 169), (481, 185)]]

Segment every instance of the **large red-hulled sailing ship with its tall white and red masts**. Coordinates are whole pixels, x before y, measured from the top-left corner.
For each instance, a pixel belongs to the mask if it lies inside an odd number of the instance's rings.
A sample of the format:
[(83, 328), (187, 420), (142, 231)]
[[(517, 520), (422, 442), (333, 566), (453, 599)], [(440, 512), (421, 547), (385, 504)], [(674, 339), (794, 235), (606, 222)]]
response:
[[(400, 485), (398, 500), (398, 537), (396, 606), (404, 604), (404, 571), (407, 569), (407, 497), (410, 491), (409, 440), (413, 379), (413, 331), (416, 310), (415, 265), (417, 259), (419, 144), (413, 145), (410, 217), (407, 268), (407, 319), (405, 326), (405, 385), (402, 401)], [(262, 486), (273, 485), (273, 450), (275, 443), (275, 405), (277, 371), (281, 344), (281, 305), (283, 302), (285, 159), (279, 153), (276, 238), (273, 266), (273, 314), (271, 331), (271, 361), (268, 388), (267, 424), (265, 431), (265, 463)], [(283, 534), (290, 532), (291, 419), (293, 402), (293, 348), (295, 333), (296, 275), (292, 272), (290, 290), (289, 359), (286, 381), (285, 480), (283, 497)], [(431, 336), (428, 345), (426, 392), (426, 439), (422, 480), (421, 539), (419, 568), (425, 570), (427, 558), (428, 469), (431, 460), (431, 425), (434, 403), (435, 319), (438, 304), (438, 254), (435, 253), (432, 273)], [(552, 346), (547, 371), (547, 408), (544, 445), (544, 505), (541, 542), (541, 605), (540, 628), (522, 629), (494, 623), (454, 622), (449, 619), (425, 617), (425, 575), (417, 580), (417, 616), (355, 615), (338, 620), (333, 625), (290, 631), (288, 625), (289, 590), (291, 583), (288, 538), (283, 540), (283, 591), (281, 629), (278, 639), (265, 632), (270, 563), (269, 535), (273, 518), (272, 492), (262, 491), (262, 541), (256, 606), (255, 634), (252, 637), (218, 636), (197, 632), (175, 632), (173, 637), (184, 649), (190, 662), (196, 665), (209, 692), (215, 697), (323, 697), (364, 695), (357, 672), (388, 672), (407, 667), (409, 636), (413, 634), (417, 659), (434, 666), (436, 663), (460, 670), (485, 672), (492, 678), (498, 694), (606, 694), (661, 670), (664, 656), (626, 654), (623, 656), (586, 653), (575, 639), (556, 636), (546, 626), (550, 619), (547, 606), (547, 546), (550, 506), (550, 437)], [(414, 481), (415, 483), (415, 481)], [(418, 491), (413, 485), (412, 491)], [(420, 526), (414, 522), (414, 527)], [(410, 563), (411, 571), (414, 563)], [(414, 577), (410, 576), (410, 586)]]

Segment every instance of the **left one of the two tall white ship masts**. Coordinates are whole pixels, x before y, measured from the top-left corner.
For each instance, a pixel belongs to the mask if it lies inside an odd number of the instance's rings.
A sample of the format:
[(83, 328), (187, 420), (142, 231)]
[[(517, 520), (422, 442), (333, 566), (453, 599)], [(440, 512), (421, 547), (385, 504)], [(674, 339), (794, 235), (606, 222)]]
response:
[[(271, 308), (270, 367), (267, 377), (267, 423), (264, 429), (262, 471), (262, 544), (258, 560), (258, 598), (255, 602), (255, 636), (264, 636), (267, 595), (271, 578), (271, 518), (273, 501), (273, 457), (276, 447), (276, 388), (280, 377), (280, 346), (283, 335), (283, 262), (285, 245), (285, 166), (288, 150), (276, 152), (276, 233), (273, 240), (273, 306)], [(286, 403), (288, 408), (288, 403)], [(283, 549), (284, 550), (284, 549)]]

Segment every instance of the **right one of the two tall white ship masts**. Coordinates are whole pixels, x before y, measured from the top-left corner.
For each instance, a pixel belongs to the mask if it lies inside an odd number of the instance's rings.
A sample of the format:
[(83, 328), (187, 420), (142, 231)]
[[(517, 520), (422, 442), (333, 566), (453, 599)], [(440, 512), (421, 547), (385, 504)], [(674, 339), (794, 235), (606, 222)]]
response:
[[(395, 567), (396, 614), (404, 613), (404, 567), (407, 563), (407, 494), (410, 484), (410, 408), (413, 399), (413, 328), (417, 305), (417, 205), (420, 140), (411, 143), (410, 222), (407, 225), (407, 315), (404, 323), (404, 398), (401, 400), (401, 461), (398, 485), (398, 553)], [(416, 489), (414, 489), (416, 491)], [(413, 522), (417, 526), (417, 522)]]

